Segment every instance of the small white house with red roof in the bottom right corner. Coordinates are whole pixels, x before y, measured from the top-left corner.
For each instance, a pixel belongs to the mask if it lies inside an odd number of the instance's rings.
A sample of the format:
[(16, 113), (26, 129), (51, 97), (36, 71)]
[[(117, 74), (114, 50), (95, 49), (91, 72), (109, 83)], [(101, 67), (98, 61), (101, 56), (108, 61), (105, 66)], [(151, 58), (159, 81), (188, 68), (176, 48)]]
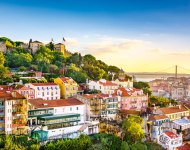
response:
[(167, 150), (175, 150), (183, 143), (182, 134), (178, 135), (173, 132), (164, 132), (160, 135), (158, 144)]

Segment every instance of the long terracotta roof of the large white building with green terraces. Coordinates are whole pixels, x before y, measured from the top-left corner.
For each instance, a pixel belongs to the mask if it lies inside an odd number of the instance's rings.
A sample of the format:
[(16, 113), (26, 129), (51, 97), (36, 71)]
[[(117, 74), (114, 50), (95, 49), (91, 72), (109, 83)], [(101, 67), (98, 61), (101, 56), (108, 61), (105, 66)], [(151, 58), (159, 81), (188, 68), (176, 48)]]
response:
[(28, 102), (36, 108), (83, 105), (83, 103), (76, 98), (59, 100), (30, 99)]

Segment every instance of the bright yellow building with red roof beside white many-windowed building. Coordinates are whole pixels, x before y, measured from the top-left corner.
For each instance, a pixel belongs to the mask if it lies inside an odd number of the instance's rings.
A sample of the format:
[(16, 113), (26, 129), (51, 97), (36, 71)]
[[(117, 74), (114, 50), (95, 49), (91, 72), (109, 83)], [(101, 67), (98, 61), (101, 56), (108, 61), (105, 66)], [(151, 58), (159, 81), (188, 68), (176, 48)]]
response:
[(68, 98), (77, 95), (78, 84), (69, 77), (56, 78), (54, 83), (58, 84), (61, 90), (61, 98)]

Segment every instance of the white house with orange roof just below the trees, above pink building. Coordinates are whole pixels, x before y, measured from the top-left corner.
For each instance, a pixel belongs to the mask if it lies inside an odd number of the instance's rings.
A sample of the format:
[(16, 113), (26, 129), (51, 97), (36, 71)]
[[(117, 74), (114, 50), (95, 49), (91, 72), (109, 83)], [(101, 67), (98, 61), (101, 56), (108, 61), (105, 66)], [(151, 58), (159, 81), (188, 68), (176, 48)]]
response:
[(99, 90), (103, 94), (113, 94), (114, 90), (119, 87), (116, 83), (105, 79), (89, 81), (88, 86), (90, 90)]

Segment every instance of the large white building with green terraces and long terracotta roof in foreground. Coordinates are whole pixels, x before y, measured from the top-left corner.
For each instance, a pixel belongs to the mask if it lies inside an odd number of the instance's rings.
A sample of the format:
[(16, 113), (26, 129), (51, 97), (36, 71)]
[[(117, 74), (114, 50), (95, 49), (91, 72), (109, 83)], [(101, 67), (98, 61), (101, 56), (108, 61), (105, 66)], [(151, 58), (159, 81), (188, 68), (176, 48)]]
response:
[[(76, 98), (45, 101), (29, 100), (29, 126), (46, 132), (47, 139), (76, 138), (81, 133), (99, 132), (99, 122), (86, 121), (85, 105)], [(33, 134), (32, 133), (32, 134)]]

